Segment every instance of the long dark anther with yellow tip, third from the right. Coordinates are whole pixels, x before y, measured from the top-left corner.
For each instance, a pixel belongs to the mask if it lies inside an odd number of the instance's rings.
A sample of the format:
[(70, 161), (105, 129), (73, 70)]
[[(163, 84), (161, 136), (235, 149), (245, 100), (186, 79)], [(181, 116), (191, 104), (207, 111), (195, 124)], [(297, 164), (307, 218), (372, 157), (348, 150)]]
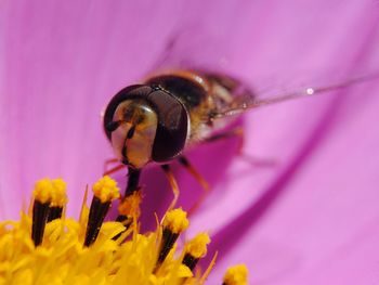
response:
[(165, 261), (179, 235), (188, 228), (190, 221), (186, 216), (187, 213), (181, 208), (170, 210), (166, 213), (162, 222), (162, 237), (159, 247), (158, 260), (154, 272), (156, 272), (160, 264)]

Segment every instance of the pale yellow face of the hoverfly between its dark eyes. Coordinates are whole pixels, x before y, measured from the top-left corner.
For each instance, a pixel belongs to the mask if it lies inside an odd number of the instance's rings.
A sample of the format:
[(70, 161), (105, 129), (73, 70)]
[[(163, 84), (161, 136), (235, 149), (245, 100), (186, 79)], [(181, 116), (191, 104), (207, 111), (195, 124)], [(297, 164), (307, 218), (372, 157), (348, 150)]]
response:
[(157, 115), (144, 100), (126, 100), (114, 114), (118, 128), (112, 133), (116, 155), (134, 168), (142, 168), (152, 157), (157, 130)]

